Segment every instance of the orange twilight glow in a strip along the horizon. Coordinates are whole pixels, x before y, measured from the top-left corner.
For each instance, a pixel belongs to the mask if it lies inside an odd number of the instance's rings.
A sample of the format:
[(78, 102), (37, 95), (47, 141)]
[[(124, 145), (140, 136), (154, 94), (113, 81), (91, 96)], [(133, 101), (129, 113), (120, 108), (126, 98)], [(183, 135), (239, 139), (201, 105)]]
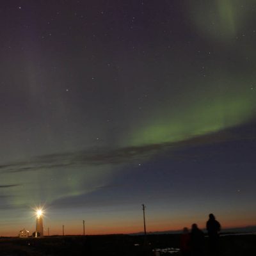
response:
[[(42, 208), (35, 209), (36, 216), (44, 215)], [(230, 219), (229, 216), (217, 215), (217, 220), (220, 221), (222, 229), (224, 228), (239, 228), (256, 225), (253, 216), (245, 219), (244, 217)], [(206, 218), (198, 218), (198, 216), (191, 216), (188, 218), (146, 218), (147, 232), (157, 231), (177, 231), (182, 230), (183, 227), (191, 228), (192, 223), (197, 223), (199, 228), (204, 229)], [(64, 220), (64, 221), (53, 221), (48, 219), (45, 224), (45, 230), (47, 227), (50, 229), (50, 235), (62, 235), (62, 225), (65, 225), (66, 235), (83, 235), (83, 222), (77, 220)], [(20, 225), (17, 228), (15, 223), (4, 225), (0, 230), (0, 236), (17, 236), (19, 230), (24, 227), (29, 230), (30, 234), (35, 230), (34, 221), (28, 221), (24, 225)], [(143, 220), (88, 220), (85, 224), (86, 235), (105, 235), (105, 234), (132, 234), (143, 232)]]

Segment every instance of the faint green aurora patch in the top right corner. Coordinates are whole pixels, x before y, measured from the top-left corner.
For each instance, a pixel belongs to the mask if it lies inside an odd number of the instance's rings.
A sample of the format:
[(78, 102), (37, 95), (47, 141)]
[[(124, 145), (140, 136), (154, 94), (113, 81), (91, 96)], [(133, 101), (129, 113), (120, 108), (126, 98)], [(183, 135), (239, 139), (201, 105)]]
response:
[(204, 36), (226, 42), (234, 40), (248, 26), (253, 0), (190, 1), (188, 14)]

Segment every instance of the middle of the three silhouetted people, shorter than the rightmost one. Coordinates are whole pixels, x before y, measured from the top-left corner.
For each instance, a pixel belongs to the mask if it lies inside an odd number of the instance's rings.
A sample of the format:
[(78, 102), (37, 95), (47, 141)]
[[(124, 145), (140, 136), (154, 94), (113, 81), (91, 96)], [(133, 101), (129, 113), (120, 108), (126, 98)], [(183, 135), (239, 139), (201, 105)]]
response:
[(204, 255), (204, 232), (195, 223), (191, 228), (191, 252), (193, 256)]

